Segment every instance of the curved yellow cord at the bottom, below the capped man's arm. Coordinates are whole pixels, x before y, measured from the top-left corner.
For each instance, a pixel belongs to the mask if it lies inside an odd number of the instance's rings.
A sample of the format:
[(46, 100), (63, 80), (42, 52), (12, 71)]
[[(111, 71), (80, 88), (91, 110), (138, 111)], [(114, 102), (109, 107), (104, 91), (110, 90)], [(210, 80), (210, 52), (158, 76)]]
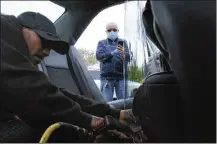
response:
[(43, 133), (40, 142), (39, 143), (46, 143), (50, 137), (50, 135), (52, 134), (53, 131), (55, 131), (56, 129), (60, 128), (60, 123), (55, 123), (52, 124), (51, 126), (49, 126), (46, 131)]

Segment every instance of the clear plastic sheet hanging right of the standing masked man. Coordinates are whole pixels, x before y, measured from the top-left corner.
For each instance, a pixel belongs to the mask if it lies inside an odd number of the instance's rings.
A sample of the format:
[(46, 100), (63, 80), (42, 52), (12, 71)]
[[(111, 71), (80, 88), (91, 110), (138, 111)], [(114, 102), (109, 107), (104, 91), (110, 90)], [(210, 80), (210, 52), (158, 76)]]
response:
[(152, 54), (147, 49), (146, 34), (142, 23), (142, 13), (146, 1), (133, 1), (125, 3), (124, 36), (131, 43), (132, 60), (127, 65), (125, 77), (125, 95), (133, 97), (135, 90), (143, 83), (145, 78), (145, 63)]

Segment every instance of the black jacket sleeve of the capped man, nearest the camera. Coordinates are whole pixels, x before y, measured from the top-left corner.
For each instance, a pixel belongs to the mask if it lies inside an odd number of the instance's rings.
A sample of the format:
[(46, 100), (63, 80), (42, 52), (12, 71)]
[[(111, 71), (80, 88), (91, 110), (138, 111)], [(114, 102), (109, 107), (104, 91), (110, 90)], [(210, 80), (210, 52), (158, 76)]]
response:
[(91, 115), (52, 85), (30, 59), (20, 29), (1, 16), (1, 107), (34, 127), (63, 121), (89, 129)]

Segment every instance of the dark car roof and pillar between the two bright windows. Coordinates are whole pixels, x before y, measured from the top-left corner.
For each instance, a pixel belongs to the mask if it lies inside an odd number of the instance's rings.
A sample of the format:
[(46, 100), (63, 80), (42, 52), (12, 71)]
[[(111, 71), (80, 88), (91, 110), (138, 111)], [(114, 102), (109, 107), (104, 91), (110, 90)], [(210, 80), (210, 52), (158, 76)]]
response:
[[(103, 9), (123, 3), (124, 0), (110, 1), (52, 1), (65, 7), (66, 12), (55, 22), (57, 32), (72, 44), (78, 40), (91, 20)], [(64, 19), (64, 20), (61, 20)], [(62, 28), (67, 28), (67, 30)]]

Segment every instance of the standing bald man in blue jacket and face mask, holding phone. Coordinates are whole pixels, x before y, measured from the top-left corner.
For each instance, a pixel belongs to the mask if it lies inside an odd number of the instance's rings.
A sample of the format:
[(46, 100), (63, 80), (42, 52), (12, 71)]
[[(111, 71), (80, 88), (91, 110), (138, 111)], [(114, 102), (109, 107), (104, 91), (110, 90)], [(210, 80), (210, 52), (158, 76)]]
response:
[[(101, 71), (100, 90), (107, 101), (113, 100), (114, 89), (118, 99), (124, 98), (124, 73), (126, 76), (127, 62), (130, 61), (127, 42), (118, 37), (118, 31), (116, 23), (108, 23), (107, 39), (100, 40), (96, 50)], [(119, 41), (123, 41), (123, 46), (118, 45)]]

